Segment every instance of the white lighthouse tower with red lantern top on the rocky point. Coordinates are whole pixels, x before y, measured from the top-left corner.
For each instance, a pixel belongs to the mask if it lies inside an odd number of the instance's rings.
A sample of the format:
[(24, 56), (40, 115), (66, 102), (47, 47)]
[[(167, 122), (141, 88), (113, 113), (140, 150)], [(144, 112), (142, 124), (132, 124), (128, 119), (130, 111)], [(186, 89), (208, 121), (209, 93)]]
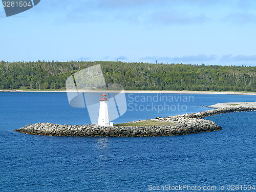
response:
[(101, 99), (99, 100), (99, 126), (113, 126), (113, 122), (110, 122), (109, 111), (108, 111), (108, 98), (105, 94), (101, 95)]

